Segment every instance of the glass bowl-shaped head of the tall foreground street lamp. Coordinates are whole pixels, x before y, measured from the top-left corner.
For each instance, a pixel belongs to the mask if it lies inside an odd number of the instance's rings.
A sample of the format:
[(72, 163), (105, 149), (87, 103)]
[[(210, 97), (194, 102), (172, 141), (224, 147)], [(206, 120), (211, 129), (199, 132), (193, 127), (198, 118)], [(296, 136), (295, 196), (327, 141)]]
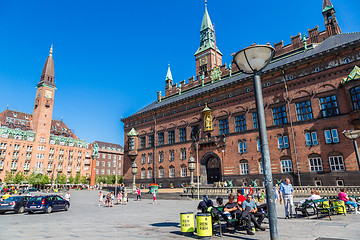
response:
[(270, 45), (251, 45), (234, 55), (234, 62), (244, 73), (252, 74), (263, 70), (271, 61), (275, 49)]

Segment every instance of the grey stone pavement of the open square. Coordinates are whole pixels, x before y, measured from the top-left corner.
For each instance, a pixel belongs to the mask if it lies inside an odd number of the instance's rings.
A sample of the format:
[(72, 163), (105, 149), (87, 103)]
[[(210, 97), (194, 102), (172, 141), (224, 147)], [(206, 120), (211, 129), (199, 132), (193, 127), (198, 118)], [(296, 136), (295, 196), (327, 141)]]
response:
[[(0, 215), (0, 239), (196, 239), (180, 232), (180, 213), (196, 212), (198, 201), (134, 201), (113, 208), (98, 206), (98, 191), (72, 191), (68, 212)], [(278, 206), (280, 239), (360, 239), (360, 215), (323, 219), (284, 219)], [(268, 227), (267, 224), (264, 225)], [(220, 239), (213, 236), (212, 239)], [(269, 230), (225, 233), (221, 239), (269, 239)]]

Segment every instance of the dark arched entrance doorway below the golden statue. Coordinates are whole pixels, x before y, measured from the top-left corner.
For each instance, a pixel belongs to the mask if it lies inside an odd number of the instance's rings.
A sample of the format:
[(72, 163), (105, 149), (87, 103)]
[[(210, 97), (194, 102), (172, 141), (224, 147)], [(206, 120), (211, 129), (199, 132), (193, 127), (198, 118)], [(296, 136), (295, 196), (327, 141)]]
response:
[(221, 161), (217, 154), (206, 153), (201, 159), (202, 183), (213, 184), (221, 181)]

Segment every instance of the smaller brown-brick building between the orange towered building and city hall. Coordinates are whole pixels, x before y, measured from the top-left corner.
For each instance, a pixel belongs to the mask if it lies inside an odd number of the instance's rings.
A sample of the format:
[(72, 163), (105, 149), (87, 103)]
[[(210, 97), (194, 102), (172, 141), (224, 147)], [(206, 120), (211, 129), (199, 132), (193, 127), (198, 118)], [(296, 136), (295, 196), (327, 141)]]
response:
[(95, 174), (123, 175), (124, 148), (119, 144), (95, 141), (99, 154), (95, 163)]

